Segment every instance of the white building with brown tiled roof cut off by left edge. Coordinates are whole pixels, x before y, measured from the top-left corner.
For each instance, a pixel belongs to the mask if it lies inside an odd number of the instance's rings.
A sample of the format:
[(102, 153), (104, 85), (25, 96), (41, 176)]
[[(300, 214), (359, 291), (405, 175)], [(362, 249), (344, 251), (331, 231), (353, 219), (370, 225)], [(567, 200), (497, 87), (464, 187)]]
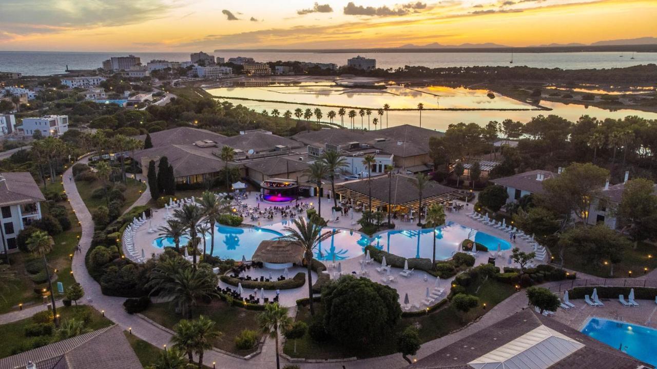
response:
[(45, 197), (29, 172), (0, 173), (1, 252), (18, 250), (16, 236), (30, 223), (41, 219)]

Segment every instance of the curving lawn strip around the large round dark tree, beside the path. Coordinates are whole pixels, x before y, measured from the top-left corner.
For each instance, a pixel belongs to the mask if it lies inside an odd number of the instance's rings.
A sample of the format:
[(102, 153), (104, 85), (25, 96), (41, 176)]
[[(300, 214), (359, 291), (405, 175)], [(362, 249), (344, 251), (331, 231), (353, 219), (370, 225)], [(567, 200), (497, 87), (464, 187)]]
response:
[[(438, 337), (445, 336), (463, 327), (468, 322), (482, 316), (486, 313), (483, 303), (486, 303), (486, 309), (489, 310), (501, 301), (504, 301), (514, 293), (514, 288), (508, 284), (497, 282), (489, 279), (480, 284), (473, 284), (468, 288), (468, 293), (476, 295), (480, 299), (480, 307), (471, 309), (464, 314), (447, 304), (443, 309), (438, 309), (428, 315), (401, 318), (401, 321), (394, 328), (393, 334), (380, 337), (376, 344), (369, 347), (343, 347), (337, 343), (313, 341), (309, 334), (297, 340), (296, 353), (294, 353), (294, 341), (286, 341), (283, 352), (290, 357), (304, 357), (316, 359), (330, 358), (347, 358), (347, 357), (380, 357), (397, 352), (396, 341), (397, 333), (405, 327), (415, 325), (419, 328), (420, 339), (422, 343), (431, 341)], [(315, 305), (315, 316), (321, 316), (321, 303)], [(310, 316), (307, 307), (299, 307), (296, 320), (303, 320), (310, 324), (313, 319)]]

